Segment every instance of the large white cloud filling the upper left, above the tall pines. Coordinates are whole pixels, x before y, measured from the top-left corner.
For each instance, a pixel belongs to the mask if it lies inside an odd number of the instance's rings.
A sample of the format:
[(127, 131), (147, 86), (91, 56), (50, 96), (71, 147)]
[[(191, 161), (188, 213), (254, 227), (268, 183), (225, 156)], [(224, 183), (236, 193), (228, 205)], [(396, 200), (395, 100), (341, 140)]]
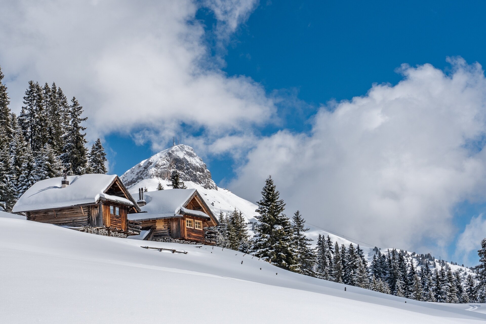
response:
[(214, 11), (233, 33), (255, 1), (7, 1), (0, 64), (18, 111), (27, 82), (55, 81), (89, 116), (88, 136), (134, 132), (166, 142), (193, 130), (218, 138), (268, 121), (274, 100), (250, 78), (217, 68), (195, 19)]

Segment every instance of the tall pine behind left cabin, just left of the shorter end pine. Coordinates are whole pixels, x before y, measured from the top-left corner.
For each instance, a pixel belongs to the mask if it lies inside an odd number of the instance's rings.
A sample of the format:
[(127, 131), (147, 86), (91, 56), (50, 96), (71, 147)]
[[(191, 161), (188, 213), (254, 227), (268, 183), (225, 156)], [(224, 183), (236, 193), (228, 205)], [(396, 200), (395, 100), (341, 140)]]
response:
[(61, 160), (70, 174), (85, 174), (88, 169), (87, 148), (85, 139), (86, 127), (81, 123), (87, 120), (82, 118), (83, 107), (79, 105), (76, 98), (71, 99), (72, 104), (69, 106), (69, 125), (64, 135), (65, 146)]

